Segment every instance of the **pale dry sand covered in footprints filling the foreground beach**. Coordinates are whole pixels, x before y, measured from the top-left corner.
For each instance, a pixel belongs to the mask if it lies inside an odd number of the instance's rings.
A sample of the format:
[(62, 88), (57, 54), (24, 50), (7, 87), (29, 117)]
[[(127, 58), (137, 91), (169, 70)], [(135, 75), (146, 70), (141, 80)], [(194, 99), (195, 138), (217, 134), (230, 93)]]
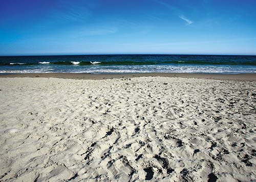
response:
[(0, 79), (2, 181), (256, 180), (256, 83)]

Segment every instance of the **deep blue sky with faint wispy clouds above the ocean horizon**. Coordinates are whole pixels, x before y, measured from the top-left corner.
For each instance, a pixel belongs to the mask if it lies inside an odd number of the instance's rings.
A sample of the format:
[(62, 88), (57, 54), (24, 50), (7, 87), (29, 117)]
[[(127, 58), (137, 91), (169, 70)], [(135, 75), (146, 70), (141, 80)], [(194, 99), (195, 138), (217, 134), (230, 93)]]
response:
[(256, 55), (254, 0), (0, 0), (0, 55)]

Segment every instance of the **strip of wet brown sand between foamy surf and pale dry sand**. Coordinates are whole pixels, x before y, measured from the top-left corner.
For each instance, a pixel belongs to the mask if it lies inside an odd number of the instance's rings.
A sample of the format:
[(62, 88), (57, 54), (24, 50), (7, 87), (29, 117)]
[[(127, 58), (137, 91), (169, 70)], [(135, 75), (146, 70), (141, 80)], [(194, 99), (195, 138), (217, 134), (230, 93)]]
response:
[(142, 76), (186, 77), (210, 80), (254, 81), (256, 73), (208, 74), (208, 73), (15, 73), (0, 74), (1, 77), (57, 77), (60, 79), (103, 80), (123, 79)]

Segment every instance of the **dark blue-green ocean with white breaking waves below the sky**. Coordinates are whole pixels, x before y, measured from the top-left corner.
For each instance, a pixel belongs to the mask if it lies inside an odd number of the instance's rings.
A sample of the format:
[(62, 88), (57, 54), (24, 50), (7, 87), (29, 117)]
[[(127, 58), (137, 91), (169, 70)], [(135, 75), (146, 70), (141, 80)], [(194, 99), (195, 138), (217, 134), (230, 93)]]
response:
[(72, 55), (1, 56), (6, 73), (256, 73), (256, 56)]

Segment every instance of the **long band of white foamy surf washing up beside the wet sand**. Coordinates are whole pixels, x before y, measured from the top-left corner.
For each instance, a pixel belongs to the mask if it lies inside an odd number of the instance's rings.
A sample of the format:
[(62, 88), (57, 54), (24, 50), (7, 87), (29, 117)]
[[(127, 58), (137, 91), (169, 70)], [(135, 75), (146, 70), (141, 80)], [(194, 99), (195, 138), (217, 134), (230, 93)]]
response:
[(111, 66), (111, 67), (70, 67), (68, 69), (49, 68), (41, 66), (40, 69), (7, 69), (1, 70), (1, 73), (221, 73), (221, 74), (237, 74), (237, 73), (256, 73), (255, 67), (230, 67), (230, 66), (178, 66), (178, 65), (148, 65), (143, 67), (136, 66)]

